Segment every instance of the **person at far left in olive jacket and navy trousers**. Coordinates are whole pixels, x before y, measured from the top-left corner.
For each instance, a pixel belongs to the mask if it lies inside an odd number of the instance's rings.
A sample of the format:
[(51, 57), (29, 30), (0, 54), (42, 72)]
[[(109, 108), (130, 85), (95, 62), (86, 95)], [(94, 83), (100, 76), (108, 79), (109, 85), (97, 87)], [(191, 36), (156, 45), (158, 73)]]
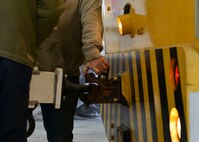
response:
[(26, 142), (36, 46), (52, 32), (63, 0), (0, 2), (0, 142)]

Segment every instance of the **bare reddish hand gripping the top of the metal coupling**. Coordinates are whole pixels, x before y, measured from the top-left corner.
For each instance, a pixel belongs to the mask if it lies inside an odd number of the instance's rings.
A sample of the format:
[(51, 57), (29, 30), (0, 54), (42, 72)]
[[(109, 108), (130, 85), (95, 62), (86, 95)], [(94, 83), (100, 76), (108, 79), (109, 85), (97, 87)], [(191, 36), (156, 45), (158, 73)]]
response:
[(94, 71), (96, 74), (100, 75), (101, 73), (105, 73), (110, 68), (108, 61), (103, 57), (96, 58), (87, 62), (84, 65), (83, 73), (86, 74), (89, 69)]

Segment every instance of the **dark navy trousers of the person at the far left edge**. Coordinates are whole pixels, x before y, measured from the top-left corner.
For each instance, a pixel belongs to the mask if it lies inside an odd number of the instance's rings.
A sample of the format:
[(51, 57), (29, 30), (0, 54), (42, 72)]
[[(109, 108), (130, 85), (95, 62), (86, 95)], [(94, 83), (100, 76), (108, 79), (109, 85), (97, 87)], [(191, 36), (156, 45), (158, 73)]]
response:
[(0, 142), (27, 142), (32, 69), (0, 57)]

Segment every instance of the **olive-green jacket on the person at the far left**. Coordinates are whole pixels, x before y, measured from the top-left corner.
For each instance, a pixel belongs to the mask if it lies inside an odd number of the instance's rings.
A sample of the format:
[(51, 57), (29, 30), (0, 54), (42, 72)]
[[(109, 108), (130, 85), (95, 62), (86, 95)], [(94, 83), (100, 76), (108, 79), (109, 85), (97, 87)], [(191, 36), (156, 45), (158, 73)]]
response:
[(29, 67), (36, 44), (57, 24), (64, 0), (2, 0), (0, 2), (0, 56)]

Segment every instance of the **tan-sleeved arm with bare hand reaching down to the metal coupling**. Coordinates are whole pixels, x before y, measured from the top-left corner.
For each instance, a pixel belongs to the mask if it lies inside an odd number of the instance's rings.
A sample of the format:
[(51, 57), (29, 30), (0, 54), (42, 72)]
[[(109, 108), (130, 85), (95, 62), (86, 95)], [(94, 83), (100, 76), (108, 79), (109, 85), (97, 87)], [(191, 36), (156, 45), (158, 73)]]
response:
[(80, 14), (82, 25), (82, 52), (85, 56), (84, 74), (93, 70), (101, 74), (109, 70), (108, 61), (101, 56), (103, 49), (103, 23), (101, 16), (101, 0), (80, 0)]

